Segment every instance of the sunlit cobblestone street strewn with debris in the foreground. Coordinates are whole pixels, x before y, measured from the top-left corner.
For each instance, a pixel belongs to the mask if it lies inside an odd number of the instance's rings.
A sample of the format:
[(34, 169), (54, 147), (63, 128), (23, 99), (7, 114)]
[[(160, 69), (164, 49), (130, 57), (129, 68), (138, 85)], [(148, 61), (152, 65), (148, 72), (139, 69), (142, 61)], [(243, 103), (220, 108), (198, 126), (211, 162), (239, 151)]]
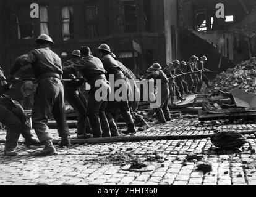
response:
[[(256, 129), (256, 124), (201, 123), (189, 117), (151, 125), (136, 135), (198, 135), (248, 129)], [(51, 131), (54, 139), (59, 139), (56, 130)], [(75, 129), (70, 131), (75, 137)], [(0, 140), (4, 137), (5, 132), (0, 131)], [(249, 143), (230, 151), (216, 149), (210, 139), (157, 140), (73, 145), (57, 148), (58, 155), (39, 158), (31, 153), (42, 147), (19, 145), (19, 156), (11, 158), (3, 155), (1, 144), (0, 184), (252, 185), (256, 183), (256, 140), (254, 135), (245, 137)]]

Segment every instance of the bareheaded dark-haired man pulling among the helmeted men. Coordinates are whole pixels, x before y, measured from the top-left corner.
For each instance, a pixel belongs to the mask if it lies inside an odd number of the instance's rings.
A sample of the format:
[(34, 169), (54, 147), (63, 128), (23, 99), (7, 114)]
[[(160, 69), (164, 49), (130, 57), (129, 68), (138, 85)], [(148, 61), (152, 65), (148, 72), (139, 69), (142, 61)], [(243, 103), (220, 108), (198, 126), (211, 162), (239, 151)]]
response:
[(106, 93), (109, 92), (109, 82), (106, 80), (105, 76), (106, 70), (104, 69), (101, 60), (92, 55), (88, 46), (82, 46), (80, 52), (82, 58), (77, 63), (64, 68), (64, 74), (79, 71), (91, 86), (87, 101), (87, 116), (92, 127), (93, 138), (111, 137), (108, 119), (105, 114), (107, 102), (104, 100), (107, 97), (107, 94), (102, 95), (101, 100), (98, 100), (95, 96), (95, 92), (100, 88), (95, 86), (96, 82), (100, 82), (101, 88), (105, 89)]

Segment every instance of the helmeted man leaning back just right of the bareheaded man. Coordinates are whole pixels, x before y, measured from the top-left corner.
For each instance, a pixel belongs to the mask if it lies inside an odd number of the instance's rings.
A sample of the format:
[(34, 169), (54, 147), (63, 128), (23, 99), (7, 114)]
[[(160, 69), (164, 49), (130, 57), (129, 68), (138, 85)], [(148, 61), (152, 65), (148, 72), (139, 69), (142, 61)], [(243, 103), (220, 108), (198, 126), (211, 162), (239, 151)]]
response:
[(101, 61), (104, 65), (105, 70), (108, 73), (108, 78), (112, 76), (114, 78), (114, 83), (118, 80), (119, 82), (122, 82), (119, 87), (114, 87), (114, 94), (116, 90), (118, 90), (120, 87), (126, 89), (126, 95), (122, 95), (123, 97), (126, 97), (126, 100), (121, 99), (122, 105), (120, 105), (120, 101), (114, 98), (114, 101), (108, 101), (108, 107), (106, 108), (106, 113), (109, 121), (109, 126), (111, 128), (111, 132), (113, 133), (113, 136), (118, 136), (117, 126), (114, 122), (114, 111), (116, 111), (119, 107), (121, 107), (122, 114), (124, 118), (126, 119), (127, 124), (127, 131), (122, 132), (123, 134), (135, 134), (135, 125), (134, 120), (132, 119), (132, 115), (130, 113), (130, 108), (128, 105), (128, 95), (129, 95), (129, 84), (126, 81), (126, 77), (122, 73), (122, 68), (118, 65), (116, 60), (114, 60), (113, 57), (111, 57), (111, 50), (110, 47), (107, 44), (101, 44), (98, 47), (98, 50), (100, 52)]

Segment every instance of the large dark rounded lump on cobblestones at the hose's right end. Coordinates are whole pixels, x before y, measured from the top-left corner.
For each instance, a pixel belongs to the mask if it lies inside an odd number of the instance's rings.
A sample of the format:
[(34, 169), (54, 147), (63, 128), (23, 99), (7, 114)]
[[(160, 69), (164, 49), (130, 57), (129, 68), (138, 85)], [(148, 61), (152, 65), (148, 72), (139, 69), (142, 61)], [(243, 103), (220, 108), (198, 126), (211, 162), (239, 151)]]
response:
[(217, 134), (211, 135), (211, 143), (213, 143), (215, 147), (224, 150), (233, 150), (242, 147), (247, 141), (241, 134), (234, 131), (228, 131), (218, 132)]

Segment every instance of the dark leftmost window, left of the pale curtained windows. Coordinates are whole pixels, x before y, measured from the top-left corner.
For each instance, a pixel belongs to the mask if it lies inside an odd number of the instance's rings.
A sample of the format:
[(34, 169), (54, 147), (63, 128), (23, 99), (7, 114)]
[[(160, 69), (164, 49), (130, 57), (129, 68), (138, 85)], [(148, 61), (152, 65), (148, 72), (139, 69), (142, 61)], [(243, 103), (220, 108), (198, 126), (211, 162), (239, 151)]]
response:
[(29, 15), (30, 6), (19, 6), (17, 8), (17, 33), (18, 39), (33, 39), (33, 19)]

